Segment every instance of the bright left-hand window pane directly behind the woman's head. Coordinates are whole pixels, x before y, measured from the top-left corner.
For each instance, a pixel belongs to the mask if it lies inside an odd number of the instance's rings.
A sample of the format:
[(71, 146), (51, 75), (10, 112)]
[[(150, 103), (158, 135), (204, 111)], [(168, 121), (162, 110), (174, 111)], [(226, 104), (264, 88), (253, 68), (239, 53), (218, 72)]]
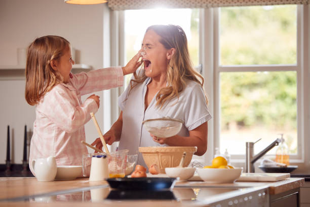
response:
[[(187, 37), (190, 58), (195, 66), (199, 65), (199, 9), (126, 10), (125, 62), (130, 60), (141, 49), (145, 30), (153, 24), (181, 26)], [(131, 75), (126, 77), (126, 86), (130, 78)]]

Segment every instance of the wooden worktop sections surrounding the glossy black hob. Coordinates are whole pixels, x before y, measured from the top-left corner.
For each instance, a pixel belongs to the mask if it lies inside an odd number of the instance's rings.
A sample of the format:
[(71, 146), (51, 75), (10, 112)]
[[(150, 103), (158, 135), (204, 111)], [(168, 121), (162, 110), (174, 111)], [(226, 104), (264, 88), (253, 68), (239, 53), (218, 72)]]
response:
[[(278, 182), (236, 182), (231, 184), (208, 184), (202, 181), (199, 182), (177, 182), (175, 187), (268, 187), (270, 194), (278, 194), (294, 188), (298, 188), (304, 185), (303, 178), (289, 178)], [(0, 178), (0, 199), (8, 199), (14, 197), (23, 197), (30, 195), (41, 195), (52, 192), (65, 192), (65, 191), (78, 191), (79, 189), (89, 188), (95, 186), (108, 187), (107, 182), (89, 182), (88, 179), (76, 179), (71, 181), (53, 181), (53, 182), (38, 182), (35, 178)], [(187, 206), (195, 205), (202, 206), (201, 203), (180, 202), (177, 200), (169, 201), (157, 201), (157, 200), (134, 200), (126, 202), (115, 202), (112, 200), (105, 200), (104, 206), (131, 206), (131, 203), (135, 207), (146, 206)], [(48, 203), (40, 202), (0, 202), (2, 206), (46, 206)], [(83, 203), (83, 202), (57, 202), (58, 207), (62, 206), (85, 206), (85, 204), (91, 206), (102, 206), (102, 203)], [(49, 206), (54, 206), (54, 203), (50, 203)], [(206, 206), (206, 205), (205, 205)]]

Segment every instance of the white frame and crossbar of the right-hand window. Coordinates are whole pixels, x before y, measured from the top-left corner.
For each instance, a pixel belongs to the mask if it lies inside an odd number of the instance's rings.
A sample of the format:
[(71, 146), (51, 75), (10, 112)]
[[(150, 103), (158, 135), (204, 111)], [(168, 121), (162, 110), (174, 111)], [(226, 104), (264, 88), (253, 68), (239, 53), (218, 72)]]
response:
[[(214, 114), (213, 120), (220, 119), (220, 95), (219, 95), (219, 74), (221, 72), (257, 72), (257, 71), (296, 71), (297, 73), (297, 155), (290, 156), (291, 163), (308, 163), (309, 160), (305, 159), (305, 155), (308, 154), (306, 149), (309, 149), (309, 144), (306, 143), (305, 139), (309, 134), (309, 125), (308, 125), (308, 87), (307, 87), (307, 79), (308, 79), (308, 6), (297, 5), (297, 62), (296, 64), (288, 64), (288, 65), (219, 65), (219, 8), (211, 9), (213, 11), (213, 105), (214, 105)], [(205, 38), (206, 39), (206, 38)], [(210, 45), (211, 43), (209, 43)], [(206, 77), (208, 80), (208, 77)], [(220, 122), (214, 121), (214, 145), (215, 147), (219, 147), (219, 139), (220, 139)], [(277, 137), (275, 137), (276, 139)], [(209, 145), (210, 146), (210, 145)], [(211, 145), (212, 146), (212, 145)], [(244, 151), (245, 152), (245, 151)], [(214, 154), (214, 153), (213, 153)], [(308, 157), (308, 156), (307, 156)], [(245, 154), (240, 155), (232, 155), (231, 160), (233, 163), (244, 163)]]

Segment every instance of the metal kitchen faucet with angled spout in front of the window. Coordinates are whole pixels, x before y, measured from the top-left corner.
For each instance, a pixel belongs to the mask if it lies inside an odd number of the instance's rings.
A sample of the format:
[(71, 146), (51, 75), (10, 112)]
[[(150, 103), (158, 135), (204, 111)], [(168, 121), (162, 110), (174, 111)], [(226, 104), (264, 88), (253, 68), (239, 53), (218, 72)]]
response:
[(265, 149), (259, 152), (257, 155), (254, 156), (254, 144), (260, 141), (261, 139), (257, 140), (256, 142), (246, 142), (246, 172), (254, 172), (254, 163), (261, 158), (264, 154), (266, 154), (269, 150), (273, 147), (279, 145), (281, 143), (281, 139), (275, 140), (272, 144), (268, 145)]

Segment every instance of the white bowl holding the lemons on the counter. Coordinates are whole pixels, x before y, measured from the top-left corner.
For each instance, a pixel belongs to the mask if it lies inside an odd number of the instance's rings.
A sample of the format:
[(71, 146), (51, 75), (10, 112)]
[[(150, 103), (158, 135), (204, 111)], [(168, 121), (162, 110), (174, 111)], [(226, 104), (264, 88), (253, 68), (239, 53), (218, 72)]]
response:
[(234, 183), (242, 174), (243, 168), (197, 168), (199, 177), (209, 183)]

